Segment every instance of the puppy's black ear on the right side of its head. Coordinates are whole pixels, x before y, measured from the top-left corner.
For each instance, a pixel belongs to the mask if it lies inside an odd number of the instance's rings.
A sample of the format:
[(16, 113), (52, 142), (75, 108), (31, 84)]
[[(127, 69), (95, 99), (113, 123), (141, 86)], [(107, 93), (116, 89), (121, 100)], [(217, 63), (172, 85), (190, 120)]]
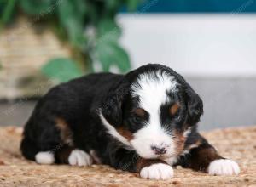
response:
[(186, 90), (187, 105), (188, 105), (188, 118), (187, 123), (190, 126), (195, 125), (200, 121), (200, 117), (203, 114), (203, 102), (198, 94), (192, 88)]

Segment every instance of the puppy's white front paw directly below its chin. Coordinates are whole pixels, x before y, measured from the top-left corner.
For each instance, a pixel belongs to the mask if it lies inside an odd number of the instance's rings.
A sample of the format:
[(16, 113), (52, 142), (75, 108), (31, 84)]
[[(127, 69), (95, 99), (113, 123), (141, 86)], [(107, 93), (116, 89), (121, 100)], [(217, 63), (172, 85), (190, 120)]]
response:
[(167, 164), (157, 163), (149, 167), (143, 167), (140, 176), (141, 178), (166, 180), (173, 177), (173, 169)]

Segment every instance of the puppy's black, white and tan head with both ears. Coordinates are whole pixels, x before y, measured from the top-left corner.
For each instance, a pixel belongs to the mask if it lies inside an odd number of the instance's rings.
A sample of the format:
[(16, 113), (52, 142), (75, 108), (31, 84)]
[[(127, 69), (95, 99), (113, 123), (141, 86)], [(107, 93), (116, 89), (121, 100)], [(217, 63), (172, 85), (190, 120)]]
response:
[(102, 122), (115, 139), (143, 158), (179, 155), (200, 120), (198, 94), (172, 69), (144, 65), (126, 74), (102, 105)]

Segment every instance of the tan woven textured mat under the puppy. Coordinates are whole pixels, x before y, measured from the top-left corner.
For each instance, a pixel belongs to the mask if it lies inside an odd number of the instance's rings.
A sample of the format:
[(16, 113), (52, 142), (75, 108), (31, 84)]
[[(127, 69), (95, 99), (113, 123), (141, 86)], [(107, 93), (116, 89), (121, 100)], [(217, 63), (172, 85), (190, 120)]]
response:
[(166, 181), (146, 180), (100, 165), (37, 165), (20, 155), (21, 131), (0, 128), (0, 186), (256, 186), (256, 126), (203, 133), (222, 156), (239, 163), (239, 176), (209, 176), (177, 167), (174, 178)]

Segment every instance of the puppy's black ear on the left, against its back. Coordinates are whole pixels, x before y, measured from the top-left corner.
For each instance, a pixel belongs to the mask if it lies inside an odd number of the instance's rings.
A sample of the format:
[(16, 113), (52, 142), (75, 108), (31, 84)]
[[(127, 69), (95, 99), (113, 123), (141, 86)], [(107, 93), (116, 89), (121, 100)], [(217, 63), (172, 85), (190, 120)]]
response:
[(128, 93), (127, 83), (118, 82), (109, 90), (107, 97), (102, 100), (102, 115), (114, 127), (118, 127), (123, 122), (122, 105)]

